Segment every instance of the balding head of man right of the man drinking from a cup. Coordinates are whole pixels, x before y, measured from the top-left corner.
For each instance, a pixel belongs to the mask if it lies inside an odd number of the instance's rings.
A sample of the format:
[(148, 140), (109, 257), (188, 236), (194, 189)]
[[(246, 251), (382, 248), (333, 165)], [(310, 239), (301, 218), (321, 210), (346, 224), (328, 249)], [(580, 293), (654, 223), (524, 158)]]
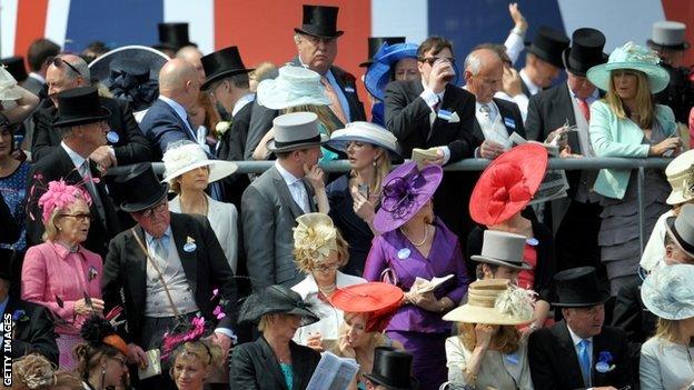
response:
[(502, 89), (503, 77), (504, 62), (493, 50), (474, 50), (465, 59), (466, 88), (475, 94), (477, 102), (490, 102), (494, 94)]

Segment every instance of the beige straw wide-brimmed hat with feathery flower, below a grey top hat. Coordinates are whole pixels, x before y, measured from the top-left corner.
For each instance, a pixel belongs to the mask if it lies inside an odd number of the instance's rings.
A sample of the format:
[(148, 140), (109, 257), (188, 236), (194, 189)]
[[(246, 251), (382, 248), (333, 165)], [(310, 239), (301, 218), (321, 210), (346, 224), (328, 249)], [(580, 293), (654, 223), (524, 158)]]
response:
[(444, 320), (498, 326), (531, 323), (533, 294), (508, 279), (478, 280), (469, 286), (467, 303), (449, 311)]

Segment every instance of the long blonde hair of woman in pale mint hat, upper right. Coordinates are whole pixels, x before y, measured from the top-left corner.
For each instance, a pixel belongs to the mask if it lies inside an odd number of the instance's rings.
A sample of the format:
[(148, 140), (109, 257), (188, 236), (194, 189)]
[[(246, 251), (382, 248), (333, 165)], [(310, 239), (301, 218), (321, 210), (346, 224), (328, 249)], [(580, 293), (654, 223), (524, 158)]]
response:
[(655, 118), (655, 102), (651, 89), (648, 88), (648, 79), (644, 72), (632, 69), (613, 70), (609, 77), (609, 90), (605, 94), (605, 101), (617, 118), (627, 119), (628, 114), (615, 88), (615, 73), (624, 71), (636, 76), (636, 112), (632, 112), (635, 117), (634, 121), (642, 129), (651, 129)]

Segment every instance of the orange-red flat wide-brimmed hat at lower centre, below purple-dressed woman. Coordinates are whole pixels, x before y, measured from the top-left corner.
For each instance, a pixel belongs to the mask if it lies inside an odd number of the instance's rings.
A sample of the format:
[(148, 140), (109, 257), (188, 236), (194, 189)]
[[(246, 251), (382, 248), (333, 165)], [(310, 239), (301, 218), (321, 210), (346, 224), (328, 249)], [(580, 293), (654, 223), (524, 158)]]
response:
[(344, 312), (368, 313), (365, 331), (381, 332), (400, 306), (403, 294), (397, 286), (369, 282), (339, 289), (330, 303)]

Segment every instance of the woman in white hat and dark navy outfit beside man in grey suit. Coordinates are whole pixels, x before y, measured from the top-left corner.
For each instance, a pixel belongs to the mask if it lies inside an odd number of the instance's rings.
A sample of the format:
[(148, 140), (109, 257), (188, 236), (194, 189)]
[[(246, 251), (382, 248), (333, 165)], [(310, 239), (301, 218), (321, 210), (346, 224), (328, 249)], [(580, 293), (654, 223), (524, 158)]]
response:
[(330, 218), (349, 243), (346, 273), (361, 274), (374, 234), (374, 217), (380, 191), (390, 172), (391, 160), (399, 160), (397, 139), (383, 127), (369, 122), (347, 123), (330, 134), (327, 148), (347, 154), (351, 171), (326, 188)]

